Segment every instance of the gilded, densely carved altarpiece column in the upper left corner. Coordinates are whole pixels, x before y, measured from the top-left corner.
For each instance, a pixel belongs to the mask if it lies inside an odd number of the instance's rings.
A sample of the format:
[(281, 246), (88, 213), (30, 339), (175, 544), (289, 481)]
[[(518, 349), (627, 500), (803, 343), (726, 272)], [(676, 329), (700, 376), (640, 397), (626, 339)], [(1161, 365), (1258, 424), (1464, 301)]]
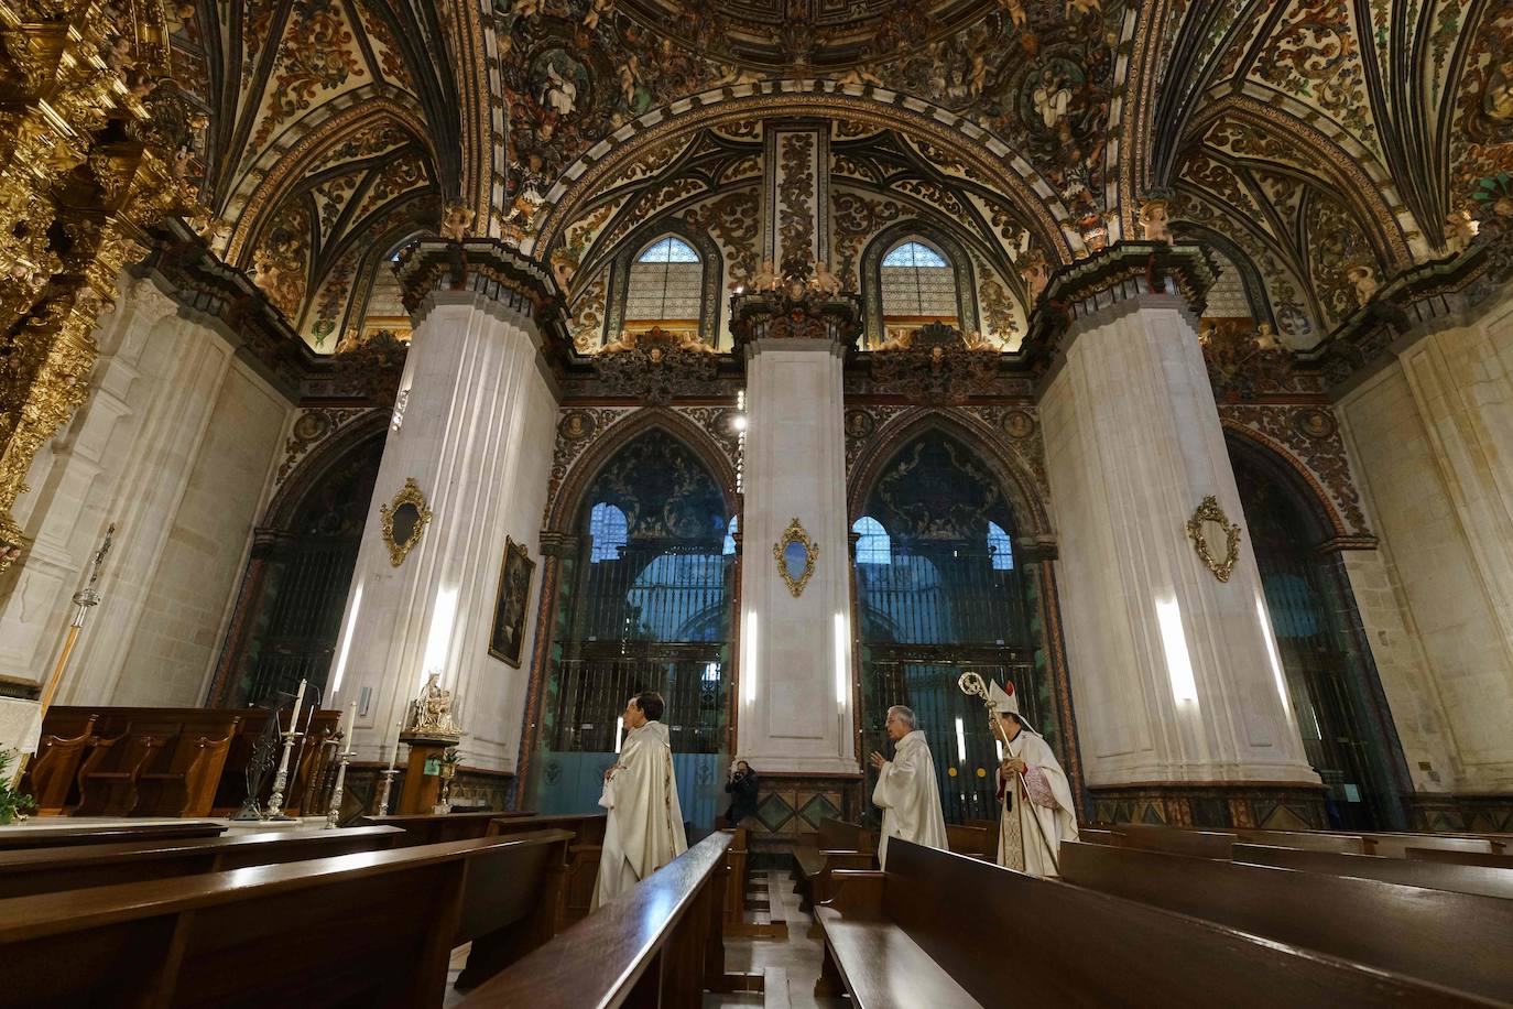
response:
[(166, 74), (153, 5), (0, 0), (0, 572), (32, 457), (88, 393), (117, 274), (192, 203), (157, 121)]

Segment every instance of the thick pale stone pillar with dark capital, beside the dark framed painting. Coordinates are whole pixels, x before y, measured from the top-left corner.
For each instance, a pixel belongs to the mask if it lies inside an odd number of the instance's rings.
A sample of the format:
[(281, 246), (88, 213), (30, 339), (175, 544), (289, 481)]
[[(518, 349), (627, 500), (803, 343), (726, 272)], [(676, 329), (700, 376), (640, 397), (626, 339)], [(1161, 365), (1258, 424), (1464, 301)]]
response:
[[(359, 702), (357, 759), (389, 759), (428, 672), (452, 691), (464, 767), (513, 773), (539, 581), (520, 667), (490, 654), (505, 539), (539, 560), (566, 340), (549, 274), (487, 241), (425, 242), (399, 266), (416, 319), (363, 529), (325, 706)], [(380, 508), (413, 480), (430, 522), (396, 566)]]

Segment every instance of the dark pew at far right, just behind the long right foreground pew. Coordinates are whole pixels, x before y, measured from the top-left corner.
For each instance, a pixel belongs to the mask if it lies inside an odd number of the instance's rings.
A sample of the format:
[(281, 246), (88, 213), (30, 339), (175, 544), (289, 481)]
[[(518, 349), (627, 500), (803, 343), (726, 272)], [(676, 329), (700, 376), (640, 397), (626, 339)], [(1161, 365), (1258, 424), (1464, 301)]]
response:
[(1448, 989), (1513, 997), (1513, 903), (1375, 879), (1062, 844), (1068, 883)]

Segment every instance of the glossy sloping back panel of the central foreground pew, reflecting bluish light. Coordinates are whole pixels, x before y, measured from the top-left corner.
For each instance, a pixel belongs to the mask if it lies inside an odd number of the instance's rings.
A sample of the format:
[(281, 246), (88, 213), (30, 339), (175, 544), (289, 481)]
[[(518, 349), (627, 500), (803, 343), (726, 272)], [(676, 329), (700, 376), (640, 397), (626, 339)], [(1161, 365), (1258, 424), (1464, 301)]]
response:
[(711, 834), (625, 896), (480, 986), (464, 1009), (614, 1009), (661, 953), (725, 861), (729, 834)]

